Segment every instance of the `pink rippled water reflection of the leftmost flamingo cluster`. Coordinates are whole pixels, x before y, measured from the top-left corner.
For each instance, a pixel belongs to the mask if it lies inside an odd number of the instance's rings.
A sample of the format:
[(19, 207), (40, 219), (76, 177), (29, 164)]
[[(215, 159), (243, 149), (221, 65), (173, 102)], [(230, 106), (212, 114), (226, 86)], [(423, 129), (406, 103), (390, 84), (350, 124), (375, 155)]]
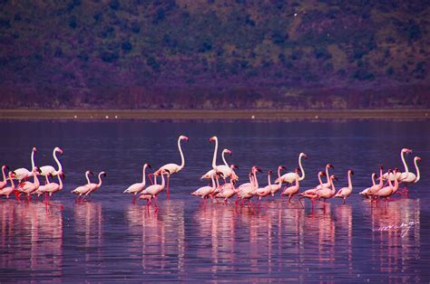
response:
[[(30, 275), (62, 275), (63, 212), (46, 211), (42, 203), (0, 203), (2, 248), (15, 253), (0, 253), (2, 268), (30, 268)], [(19, 236), (19, 237), (18, 237)], [(24, 237), (23, 237), (24, 236)], [(19, 257), (16, 257), (16, 255)]]

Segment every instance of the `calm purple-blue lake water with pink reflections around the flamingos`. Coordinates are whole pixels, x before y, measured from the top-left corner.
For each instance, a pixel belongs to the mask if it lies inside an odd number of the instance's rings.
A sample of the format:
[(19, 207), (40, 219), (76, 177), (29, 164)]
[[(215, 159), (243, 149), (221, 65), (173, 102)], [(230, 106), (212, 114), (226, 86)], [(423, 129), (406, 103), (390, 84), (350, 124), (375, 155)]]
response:
[[(46, 211), (40, 201), (0, 200), (0, 280), (294, 280), (406, 281), (430, 279), (430, 124), (397, 121), (350, 122), (0, 122), (0, 163), (30, 168), (53, 165), (52, 150), (64, 149), (64, 190), (54, 196), (64, 210)], [(160, 197), (160, 211), (132, 204), (122, 191), (142, 180), (142, 164), (186, 166), (171, 178), (171, 198)], [(297, 166), (299, 152), (306, 179), (332, 163), (337, 187), (347, 185), (351, 168), (354, 195), (326, 209), (302, 209), (279, 196), (259, 209), (234, 204), (200, 204), (190, 193), (204, 185), (217, 135), (220, 150), (233, 151), (239, 184), (249, 167)], [(421, 156), (421, 181), (409, 198), (372, 208), (358, 192), (383, 164), (403, 169), (402, 147)], [(219, 157), (220, 158), (220, 157)], [(83, 173), (107, 171), (89, 202), (75, 203), (73, 188)], [(259, 175), (267, 184), (266, 174)], [(399, 196), (400, 197), (400, 196)], [(401, 227), (402, 224), (409, 224)], [(393, 226), (393, 227), (387, 227)], [(386, 230), (381, 230), (386, 227)]]

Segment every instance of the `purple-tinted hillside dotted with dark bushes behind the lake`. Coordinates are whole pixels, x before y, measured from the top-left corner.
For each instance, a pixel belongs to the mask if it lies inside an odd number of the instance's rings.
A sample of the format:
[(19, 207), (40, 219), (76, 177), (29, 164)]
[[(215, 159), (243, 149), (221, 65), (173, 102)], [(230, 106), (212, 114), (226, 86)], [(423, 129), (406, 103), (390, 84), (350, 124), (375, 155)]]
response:
[(429, 1), (0, 6), (1, 108), (430, 107)]

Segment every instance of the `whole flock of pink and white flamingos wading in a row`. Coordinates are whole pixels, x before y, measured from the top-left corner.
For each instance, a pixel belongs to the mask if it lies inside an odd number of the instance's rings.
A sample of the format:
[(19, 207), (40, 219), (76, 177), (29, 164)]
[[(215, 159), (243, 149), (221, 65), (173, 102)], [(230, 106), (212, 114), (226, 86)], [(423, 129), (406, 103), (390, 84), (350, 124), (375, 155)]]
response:
[[(151, 181), (151, 185), (146, 186), (146, 170), (151, 168), (149, 164), (144, 164), (142, 169), (142, 183), (136, 183), (130, 185), (125, 191), (125, 194), (133, 194), (133, 202), (138, 196), (139, 199), (146, 200), (147, 205), (151, 204), (153, 199), (154, 208), (158, 210), (157, 196), (166, 189), (167, 198), (169, 199), (169, 180), (170, 176), (177, 174), (185, 166), (185, 158), (182, 153), (181, 141), (188, 141), (188, 137), (180, 136), (178, 138), (178, 148), (181, 154), (181, 165), (177, 164), (166, 164), (161, 166), (155, 172), (148, 174)], [(222, 199), (224, 203), (228, 203), (230, 198), (237, 196), (235, 203), (244, 204), (246, 201), (250, 203), (252, 197), (261, 200), (263, 197), (275, 196), (279, 193), (282, 185), (286, 185), (281, 191), (280, 195), (288, 196), (288, 202), (291, 203), (291, 199), (298, 195), (298, 202), (303, 206), (301, 200), (308, 198), (312, 202), (312, 207), (316, 201), (326, 201), (327, 199), (338, 197), (342, 198), (345, 203), (347, 197), (352, 194), (353, 186), (351, 181), (351, 175), (354, 175), (352, 170), (347, 171), (348, 185), (336, 190), (334, 181), (337, 180), (336, 175), (329, 175), (328, 171), (333, 168), (331, 164), (327, 164), (325, 171), (318, 172), (319, 184), (315, 187), (299, 192), (300, 182), (305, 178), (305, 169), (302, 165), (302, 159), (307, 158), (305, 153), (300, 153), (298, 156), (298, 168), (294, 172), (281, 175), (281, 171), (285, 169), (285, 166), (278, 167), (278, 177), (274, 184), (271, 183), (272, 171), (268, 172), (268, 185), (260, 186), (258, 180), (258, 174), (261, 173), (259, 166), (252, 166), (249, 172), (249, 182), (237, 186), (239, 181), (238, 175), (235, 173), (235, 169), (239, 168), (236, 165), (229, 165), (226, 161), (225, 154), (231, 155), (229, 149), (222, 150), (222, 161), (223, 164), (217, 165), (217, 153), (218, 153), (218, 137), (210, 137), (210, 142), (215, 142), (215, 149), (213, 152), (212, 166), (211, 169), (204, 175), (201, 175), (200, 179), (209, 179), (210, 185), (200, 187), (192, 195), (200, 196), (203, 202), (210, 198), (213, 200)], [(35, 166), (34, 165), (34, 154), (36, 148), (34, 147), (31, 154), (32, 170), (28, 170), (24, 167), (15, 169), (14, 171), (8, 171), (6, 177), (5, 171), (9, 170), (7, 166), (2, 166), (3, 181), (0, 181), (0, 195), (5, 195), (9, 198), (10, 194), (15, 194), (17, 200), (20, 199), (21, 195), (25, 195), (27, 200), (31, 200), (31, 195), (37, 196), (44, 194), (44, 202), (46, 205), (54, 205), (50, 203), (50, 199), (53, 194), (58, 193), (63, 189), (64, 171), (63, 166), (58, 160), (57, 153), (63, 154), (63, 150), (59, 147), (54, 148), (53, 156), (57, 164), (57, 169), (54, 166)], [(406, 164), (405, 154), (412, 153), (412, 150), (403, 148), (400, 152), (400, 156), (405, 167), (405, 171), (401, 172), (399, 169), (388, 170), (383, 173), (383, 166), (380, 166), (379, 176), (376, 179), (376, 174), (372, 174), (372, 185), (367, 187), (359, 194), (366, 198), (371, 199), (372, 202), (377, 202), (378, 199), (385, 198), (386, 204), (390, 196), (394, 194), (407, 195), (407, 185), (417, 183), (420, 179), (419, 168), (417, 162), (421, 160), (419, 156), (415, 156), (414, 164), (416, 174), (409, 172), (409, 168)], [(39, 175), (44, 176), (44, 185), (41, 185), (39, 181)], [(91, 171), (85, 172), (87, 183), (82, 186), (76, 187), (72, 193), (77, 194), (77, 201), (83, 201), (87, 196), (93, 194), (98, 188), (102, 186), (102, 176), (105, 176), (105, 172), (101, 172), (98, 175), (98, 183), (92, 183), (90, 181), (90, 175), (93, 175)], [(161, 175), (161, 184), (158, 184), (157, 177)], [(54, 182), (50, 179), (56, 176), (58, 182)], [(152, 180), (153, 176), (153, 180)], [(325, 177), (324, 177), (325, 176)], [(28, 181), (33, 177), (33, 182)], [(323, 179), (327, 180), (324, 182)], [(15, 186), (15, 180), (17, 185)], [(167, 180), (167, 181), (166, 181)], [(9, 186), (6, 186), (7, 183)], [(149, 183), (148, 183), (149, 184)], [(220, 185), (222, 184), (222, 185)], [(400, 187), (403, 185), (403, 187)], [(60, 205), (61, 206), (61, 205)]]

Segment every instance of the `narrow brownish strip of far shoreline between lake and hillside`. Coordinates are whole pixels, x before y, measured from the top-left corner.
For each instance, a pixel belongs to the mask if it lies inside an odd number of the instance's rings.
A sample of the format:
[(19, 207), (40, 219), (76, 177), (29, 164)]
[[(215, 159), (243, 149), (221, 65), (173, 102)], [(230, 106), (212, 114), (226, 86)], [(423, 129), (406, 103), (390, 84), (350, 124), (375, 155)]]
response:
[(428, 119), (430, 109), (0, 109), (0, 120), (28, 119)]

